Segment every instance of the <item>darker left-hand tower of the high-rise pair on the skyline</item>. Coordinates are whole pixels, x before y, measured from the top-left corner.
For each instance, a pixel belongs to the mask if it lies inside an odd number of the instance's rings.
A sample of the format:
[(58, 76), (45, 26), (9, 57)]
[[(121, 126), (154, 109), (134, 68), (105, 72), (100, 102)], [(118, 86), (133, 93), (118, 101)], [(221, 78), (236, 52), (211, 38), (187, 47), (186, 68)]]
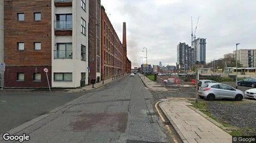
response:
[(186, 43), (179, 43), (177, 45), (177, 69), (188, 70), (193, 63), (193, 51)]

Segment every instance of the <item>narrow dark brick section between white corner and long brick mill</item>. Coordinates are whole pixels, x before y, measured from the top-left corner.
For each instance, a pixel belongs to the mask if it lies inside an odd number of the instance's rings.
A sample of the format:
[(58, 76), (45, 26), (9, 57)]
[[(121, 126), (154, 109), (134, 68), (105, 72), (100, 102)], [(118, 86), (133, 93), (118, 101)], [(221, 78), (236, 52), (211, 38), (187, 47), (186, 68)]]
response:
[[(88, 0), (87, 0), (88, 1)], [(89, 82), (101, 79), (101, 0), (89, 0)], [(98, 78), (99, 77), (99, 78)], [(99, 80), (99, 81), (98, 81)]]

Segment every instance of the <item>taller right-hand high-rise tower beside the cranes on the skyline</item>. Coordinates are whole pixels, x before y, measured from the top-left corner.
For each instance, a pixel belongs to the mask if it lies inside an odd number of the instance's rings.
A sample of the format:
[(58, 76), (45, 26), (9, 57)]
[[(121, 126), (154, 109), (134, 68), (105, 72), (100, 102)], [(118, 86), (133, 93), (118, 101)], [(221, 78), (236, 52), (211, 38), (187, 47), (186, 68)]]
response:
[(206, 39), (198, 38), (192, 41), (192, 48), (194, 49), (194, 63), (197, 61), (205, 63), (206, 56)]

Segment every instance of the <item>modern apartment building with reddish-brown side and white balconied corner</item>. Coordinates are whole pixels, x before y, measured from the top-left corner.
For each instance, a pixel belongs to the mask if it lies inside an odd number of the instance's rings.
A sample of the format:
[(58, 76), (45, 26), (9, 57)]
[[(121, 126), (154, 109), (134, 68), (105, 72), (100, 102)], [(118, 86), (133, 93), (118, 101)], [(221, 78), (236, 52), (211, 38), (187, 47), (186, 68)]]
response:
[(88, 0), (4, 0), (5, 87), (88, 83)]

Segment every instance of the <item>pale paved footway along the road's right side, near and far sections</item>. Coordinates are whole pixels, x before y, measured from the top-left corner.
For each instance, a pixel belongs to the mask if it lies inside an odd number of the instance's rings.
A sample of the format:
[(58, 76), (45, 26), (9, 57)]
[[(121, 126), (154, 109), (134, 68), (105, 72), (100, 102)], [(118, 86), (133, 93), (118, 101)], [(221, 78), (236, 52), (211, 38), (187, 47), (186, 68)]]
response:
[[(159, 84), (150, 82), (139, 74), (142, 82), (152, 89), (160, 90)], [(152, 86), (153, 85), (153, 86)], [(164, 87), (161, 88), (163, 91)], [(187, 98), (168, 98), (159, 106), (183, 143), (231, 143), (232, 136), (221, 130), (207, 115), (189, 108)], [(212, 121), (212, 122), (211, 122)], [(216, 123), (216, 124), (214, 124)]]

